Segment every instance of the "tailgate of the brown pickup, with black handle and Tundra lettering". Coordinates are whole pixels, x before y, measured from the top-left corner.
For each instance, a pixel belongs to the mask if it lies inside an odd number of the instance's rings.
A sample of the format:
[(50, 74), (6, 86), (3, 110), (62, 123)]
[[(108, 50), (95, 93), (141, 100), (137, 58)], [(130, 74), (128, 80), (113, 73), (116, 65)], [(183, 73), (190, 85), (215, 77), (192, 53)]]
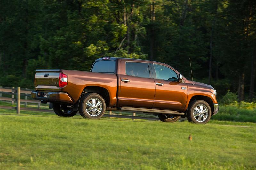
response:
[(61, 70), (36, 70), (36, 90), (59, 91), (59, 74)]

